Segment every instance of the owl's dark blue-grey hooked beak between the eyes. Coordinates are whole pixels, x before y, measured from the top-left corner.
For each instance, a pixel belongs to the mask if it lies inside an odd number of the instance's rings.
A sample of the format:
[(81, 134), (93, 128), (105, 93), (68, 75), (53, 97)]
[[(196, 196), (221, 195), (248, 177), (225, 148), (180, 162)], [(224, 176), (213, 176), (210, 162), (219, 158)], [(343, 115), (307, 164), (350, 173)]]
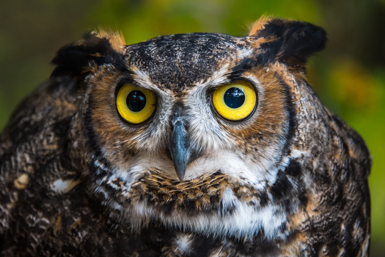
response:
[(182, 181), (191, 156), (191, 149), (186, 126), (181, 118), (176, 118), (173, 122), (170, 152), (177, 176)]

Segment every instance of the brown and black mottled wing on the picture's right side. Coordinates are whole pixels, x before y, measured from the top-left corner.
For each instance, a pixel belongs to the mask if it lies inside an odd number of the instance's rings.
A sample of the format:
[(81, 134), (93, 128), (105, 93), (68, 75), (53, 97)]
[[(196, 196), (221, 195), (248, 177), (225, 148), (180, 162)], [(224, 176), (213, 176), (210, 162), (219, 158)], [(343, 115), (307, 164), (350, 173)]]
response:
[[(371, 155), (357, 132), (326, 110), (330, 128), (324, 157), (310, 159), (311, 190), (300, 210), (300, 231), (309, 255), (367, 256), (370, 241), (368, 175)], [(292, 220), (296, 220), (293, 218)], [(297, 222), (297, 221), (295, 221)], [(311, 225), (309, 225), (311, 224)], [(310, 228), (310, 229), (309, 229)], [(317, 231), (315, 233), (314, 231)]]

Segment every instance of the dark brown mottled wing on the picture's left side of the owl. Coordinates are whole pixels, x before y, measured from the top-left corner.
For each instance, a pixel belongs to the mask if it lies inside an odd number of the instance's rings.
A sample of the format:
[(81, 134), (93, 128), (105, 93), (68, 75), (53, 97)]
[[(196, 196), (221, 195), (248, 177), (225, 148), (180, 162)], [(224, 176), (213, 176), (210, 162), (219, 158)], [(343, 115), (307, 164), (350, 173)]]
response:
[(72, 84), (59, 80), (39, 87), (1, 134), (0, 250), (6, 256), (19, 251), (37, 255), (48, 238), (77, 228), (81, 215), (70, 207), (89, 212), (81, 191), (71, 192), (81, 183), (67, 151), (78, 107), (67, 91)]

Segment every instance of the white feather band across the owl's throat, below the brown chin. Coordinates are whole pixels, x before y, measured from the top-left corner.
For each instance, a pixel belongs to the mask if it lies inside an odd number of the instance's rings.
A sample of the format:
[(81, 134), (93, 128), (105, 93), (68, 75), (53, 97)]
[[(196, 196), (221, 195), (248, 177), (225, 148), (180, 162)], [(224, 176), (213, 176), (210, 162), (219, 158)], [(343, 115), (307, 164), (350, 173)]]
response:
[(159, 219), (165, 226), (191, 229), (193, 232), (213, 236), (231, 235), (236, 238), (253, 237), (260, 231), (268, 239), (284, 239), (287, 234), (281, 231), (281, 225), (287, 220), (282, 207), (269, 205), (256, 209), (247, 203), (238, 201), (233, 213), (225, 216), (197, 214), (187, 216), (173, 211), (164, 215), (143, 202), (135, 203), (127, 213), (132, 224), (145, 224), (151, 218)]

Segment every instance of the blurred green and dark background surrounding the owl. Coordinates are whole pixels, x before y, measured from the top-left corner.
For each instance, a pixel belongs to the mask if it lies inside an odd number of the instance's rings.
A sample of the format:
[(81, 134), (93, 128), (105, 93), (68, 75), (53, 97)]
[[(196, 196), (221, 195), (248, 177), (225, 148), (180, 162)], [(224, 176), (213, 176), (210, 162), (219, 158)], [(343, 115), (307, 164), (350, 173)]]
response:
[(300, 19), (328, 32), (308, 63), (326, 106), (356, 129), (373, 155), (371, 256), (385, 256), (385, 0), (2, 0), (0, 130), (53, 66), (59, 47), (98, 26), (127, 44), (158, 35), (220, 32), (244, 36), (261, 15)]

